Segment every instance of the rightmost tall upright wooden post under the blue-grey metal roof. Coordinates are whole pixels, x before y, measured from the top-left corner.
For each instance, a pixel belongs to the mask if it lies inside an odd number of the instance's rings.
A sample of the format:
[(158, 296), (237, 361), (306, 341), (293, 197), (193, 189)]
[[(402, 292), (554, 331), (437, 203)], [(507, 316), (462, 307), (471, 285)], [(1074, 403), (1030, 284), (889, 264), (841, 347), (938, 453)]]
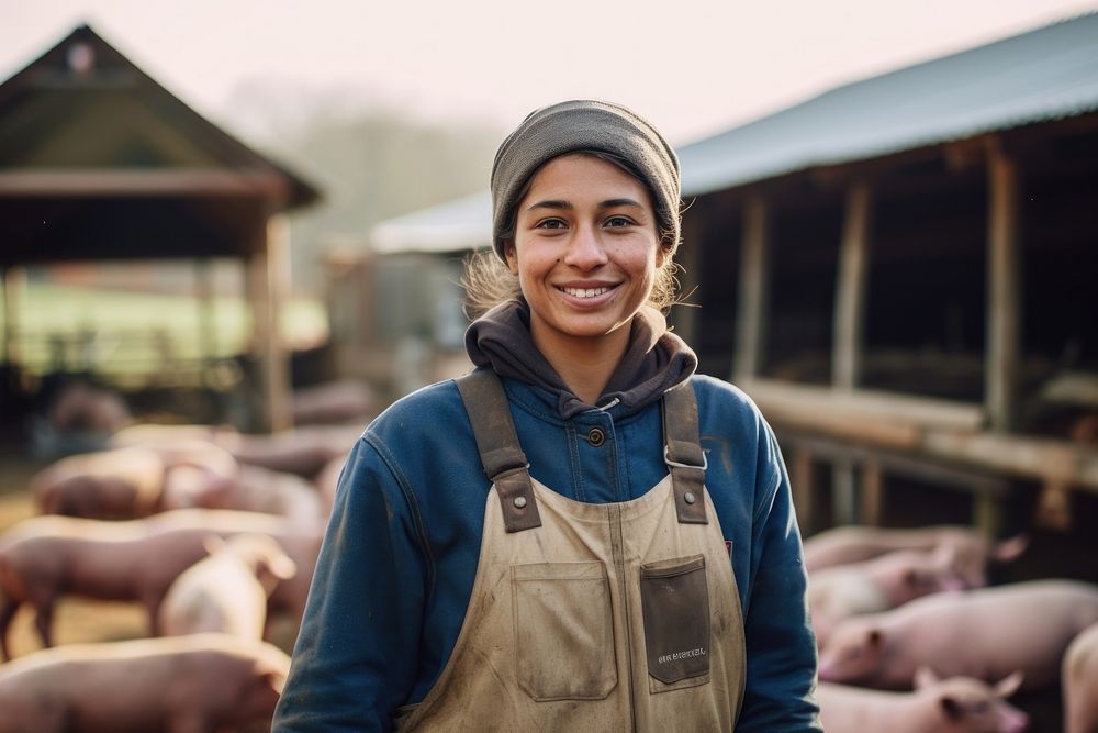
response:
[(984, 354), (984, 401), (988, 426), (1007, 432), (1015, 423), (1021, 287), (1019, 280), (1018, 167), (997, 138), (987, 144), (987, 346)]

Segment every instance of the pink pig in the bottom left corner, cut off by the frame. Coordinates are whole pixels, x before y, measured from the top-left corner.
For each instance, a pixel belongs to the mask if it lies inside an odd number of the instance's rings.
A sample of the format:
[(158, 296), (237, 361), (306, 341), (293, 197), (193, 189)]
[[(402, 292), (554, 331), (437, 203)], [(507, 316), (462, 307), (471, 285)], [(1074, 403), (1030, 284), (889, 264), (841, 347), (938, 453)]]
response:
[(0, 666), (0, 733), (219, 733), (269, 723), (278, 647), (192, 634), (34, 652)]

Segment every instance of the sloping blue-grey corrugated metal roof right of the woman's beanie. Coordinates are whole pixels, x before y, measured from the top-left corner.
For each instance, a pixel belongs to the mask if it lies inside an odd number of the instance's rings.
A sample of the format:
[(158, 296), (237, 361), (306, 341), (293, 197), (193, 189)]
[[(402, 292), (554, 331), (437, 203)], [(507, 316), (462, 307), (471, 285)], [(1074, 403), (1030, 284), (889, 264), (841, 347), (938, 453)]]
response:
[(856, 81), (679, 149), (683, 195), (1098, 110), (1098, 13)]

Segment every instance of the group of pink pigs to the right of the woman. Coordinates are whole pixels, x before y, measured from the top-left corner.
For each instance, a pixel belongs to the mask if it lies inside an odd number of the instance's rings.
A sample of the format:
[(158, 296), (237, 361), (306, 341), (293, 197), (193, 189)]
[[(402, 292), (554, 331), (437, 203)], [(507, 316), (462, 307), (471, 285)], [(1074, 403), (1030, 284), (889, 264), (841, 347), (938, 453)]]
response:
[(1098, 586), (988, 586), (1023, 536), (847, 526), (805, 542), (828, 733), (1020, 733), (1018, 690), (1060, 686), (1066, 733), (1098, 733)]

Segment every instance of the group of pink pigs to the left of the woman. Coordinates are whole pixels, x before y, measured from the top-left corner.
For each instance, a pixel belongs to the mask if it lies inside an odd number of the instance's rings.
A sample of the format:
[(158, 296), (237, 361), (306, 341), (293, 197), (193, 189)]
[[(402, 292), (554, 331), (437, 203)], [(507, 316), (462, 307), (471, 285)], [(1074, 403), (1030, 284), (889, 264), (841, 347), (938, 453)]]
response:
[[(136, 425), (35, 476), (40, 515), (0, 534), (0, 733), (269, 728), (290, 659), (265, 638), (300, 623), (360, 432)], [(150, 634), (54, 646), (67, 596), (139, 603)], [(12, 659), (24, 606), (46, 648)]]

